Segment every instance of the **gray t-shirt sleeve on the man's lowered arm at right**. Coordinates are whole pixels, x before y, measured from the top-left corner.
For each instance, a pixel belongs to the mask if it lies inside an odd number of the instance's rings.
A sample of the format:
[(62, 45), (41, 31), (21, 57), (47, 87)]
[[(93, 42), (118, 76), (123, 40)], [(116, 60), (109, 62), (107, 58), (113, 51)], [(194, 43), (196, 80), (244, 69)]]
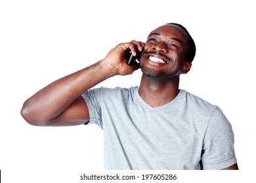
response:
[(236, 163), (234, 133), (223, 111), (213, 112), (203, 141), (203, 169), (224, 169)]

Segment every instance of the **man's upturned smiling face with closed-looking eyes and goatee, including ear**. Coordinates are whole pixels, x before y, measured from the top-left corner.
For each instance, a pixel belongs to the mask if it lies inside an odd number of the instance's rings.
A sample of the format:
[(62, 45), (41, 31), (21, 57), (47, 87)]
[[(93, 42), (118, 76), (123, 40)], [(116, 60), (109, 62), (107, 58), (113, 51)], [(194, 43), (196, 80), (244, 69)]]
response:
[(142, 73), (152, 78), (169, 78), (187, 73), (191, 67), (191, 63), (185, 61), (187, 50), (188, 35), (181, 27), (158, 27), (148, 35), (144, 46), (140, 58)]

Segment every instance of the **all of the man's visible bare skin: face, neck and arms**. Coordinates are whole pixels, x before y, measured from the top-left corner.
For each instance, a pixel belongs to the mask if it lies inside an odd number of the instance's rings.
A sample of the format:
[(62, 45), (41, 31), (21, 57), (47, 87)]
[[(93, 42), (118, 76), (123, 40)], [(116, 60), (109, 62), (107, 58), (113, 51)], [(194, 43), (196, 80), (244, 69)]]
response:
[[(142, 52), (140, 63), (130, 67), (125, 51), (130, 49), (136, 56), (136, 48)], [(152, 107), (164, 105), (179, 93), (180, 75), (190, 71), (187, 52), (188, 35), (177, 25), (162, 25), (150, 33), (146, 43), (118, 44), (104, 59), (39, 90), (25, 101), (21, 114), (29, 124), (38, 126), (85, 124), (89, 122), (89, 110), (81, 94), (107, 78), (131, 75), (140, 67), (140, 97)], [(238, 169), (238, 165), (226, 169)]]

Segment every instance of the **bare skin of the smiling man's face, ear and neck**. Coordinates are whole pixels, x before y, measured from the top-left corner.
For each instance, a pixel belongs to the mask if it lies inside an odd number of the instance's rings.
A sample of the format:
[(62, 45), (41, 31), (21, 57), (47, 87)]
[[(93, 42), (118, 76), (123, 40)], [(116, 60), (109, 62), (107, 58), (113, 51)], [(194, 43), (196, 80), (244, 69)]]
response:
[[(163, 25), (150, 33), (140, 60), (143, 75), (139, 94), (152, 107), (175, 99), (179, 92), (179, 76), (188, 73), (192, 65), (184, 60), (187, 36), (179, 27), (172, 27)], [(150, 61), (150, 58), (160, 58), (163, 63)], [(147, 71), (153, 74), (149, 75)]]

